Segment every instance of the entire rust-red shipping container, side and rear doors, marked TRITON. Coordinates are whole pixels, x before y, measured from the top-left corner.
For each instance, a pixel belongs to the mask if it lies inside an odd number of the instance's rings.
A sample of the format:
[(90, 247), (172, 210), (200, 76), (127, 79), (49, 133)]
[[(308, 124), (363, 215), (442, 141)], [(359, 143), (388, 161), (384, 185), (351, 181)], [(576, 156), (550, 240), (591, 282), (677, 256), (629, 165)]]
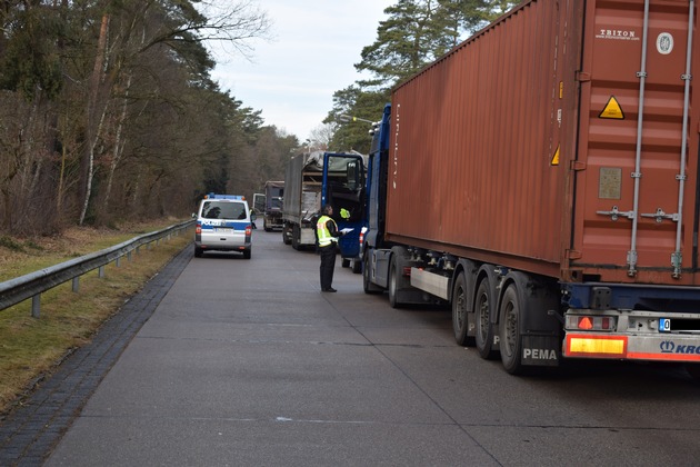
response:
[(564, 280), (696, 284), (690, 7), (529, 1), (398, 87), (388, 239)]

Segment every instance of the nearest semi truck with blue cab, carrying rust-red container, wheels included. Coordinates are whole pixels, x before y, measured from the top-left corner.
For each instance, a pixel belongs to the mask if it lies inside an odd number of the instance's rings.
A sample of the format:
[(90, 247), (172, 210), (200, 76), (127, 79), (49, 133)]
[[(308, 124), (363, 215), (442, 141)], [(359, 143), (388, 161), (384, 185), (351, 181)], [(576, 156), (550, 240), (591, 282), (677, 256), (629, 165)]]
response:
[(392, 89), (364, 291), (448, 305), (457, 342), (510, 374), (586, 358), (700, 377), (696, 16), (527, 0)]

